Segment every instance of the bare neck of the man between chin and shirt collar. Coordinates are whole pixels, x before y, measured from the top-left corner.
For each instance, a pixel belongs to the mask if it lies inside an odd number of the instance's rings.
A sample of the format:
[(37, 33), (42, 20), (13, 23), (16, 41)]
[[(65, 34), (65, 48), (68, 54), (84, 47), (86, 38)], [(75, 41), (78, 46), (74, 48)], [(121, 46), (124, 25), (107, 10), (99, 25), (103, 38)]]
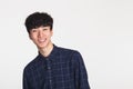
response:
[(52, 49), (53, 49), (53, 44), (50, 43), (50, 44), (48, 44), (45, 48), (39, 49), (39, 51), (40, 51), (40, 53), (43, 55), (44, 57), (48, 57), (48, 56), (51, 53)]

